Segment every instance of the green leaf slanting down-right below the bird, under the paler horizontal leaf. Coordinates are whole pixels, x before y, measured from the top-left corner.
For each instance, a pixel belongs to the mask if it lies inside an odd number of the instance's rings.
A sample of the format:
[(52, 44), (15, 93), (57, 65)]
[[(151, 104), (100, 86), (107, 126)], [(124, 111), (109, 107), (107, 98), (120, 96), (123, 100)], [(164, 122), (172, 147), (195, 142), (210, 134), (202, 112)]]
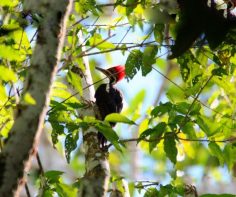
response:
[(105, 138), (115, 146), (117, 150), (122, 152), (121, 146), (118, 142), (119, 137), (110, 126), (104, 124), (96, 124), (95, 126), (98, 131), (101, 132), (105, 136)]

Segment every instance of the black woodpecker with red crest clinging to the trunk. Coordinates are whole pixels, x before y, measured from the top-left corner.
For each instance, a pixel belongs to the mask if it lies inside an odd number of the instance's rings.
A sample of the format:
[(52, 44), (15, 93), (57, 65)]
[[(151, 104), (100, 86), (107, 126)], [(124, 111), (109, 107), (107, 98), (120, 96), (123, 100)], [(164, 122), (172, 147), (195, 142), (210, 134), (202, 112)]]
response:
[[(109, 69), (96, 67), (97, 70), (105, 74), (109, 82), (101, 84), (95, 92), (95, 103), (104, 120), (108, 114), (120, 113), (123, 108), (123, 97), (121, 92), (114, 85), (125, 77), (125, 67), (122, 65), (114, 66)], [(112, 127), (115, 123), (110, 123)], [(98, 140), (102, 147), (106, 144), (106, 138), (99, 132)]]

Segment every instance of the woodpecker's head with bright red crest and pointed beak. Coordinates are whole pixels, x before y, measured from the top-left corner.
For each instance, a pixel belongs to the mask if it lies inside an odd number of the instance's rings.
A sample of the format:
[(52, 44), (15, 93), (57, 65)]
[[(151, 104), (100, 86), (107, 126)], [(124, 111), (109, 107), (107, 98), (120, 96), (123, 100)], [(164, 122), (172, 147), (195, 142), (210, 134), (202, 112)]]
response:
[(123, 65), (114, 66), (108, 69), (96, 67), (96, 69), (103, 72), (110, 79), (110, 83), (113, 84), (117, 83), (125, 77), (125, 66)]

